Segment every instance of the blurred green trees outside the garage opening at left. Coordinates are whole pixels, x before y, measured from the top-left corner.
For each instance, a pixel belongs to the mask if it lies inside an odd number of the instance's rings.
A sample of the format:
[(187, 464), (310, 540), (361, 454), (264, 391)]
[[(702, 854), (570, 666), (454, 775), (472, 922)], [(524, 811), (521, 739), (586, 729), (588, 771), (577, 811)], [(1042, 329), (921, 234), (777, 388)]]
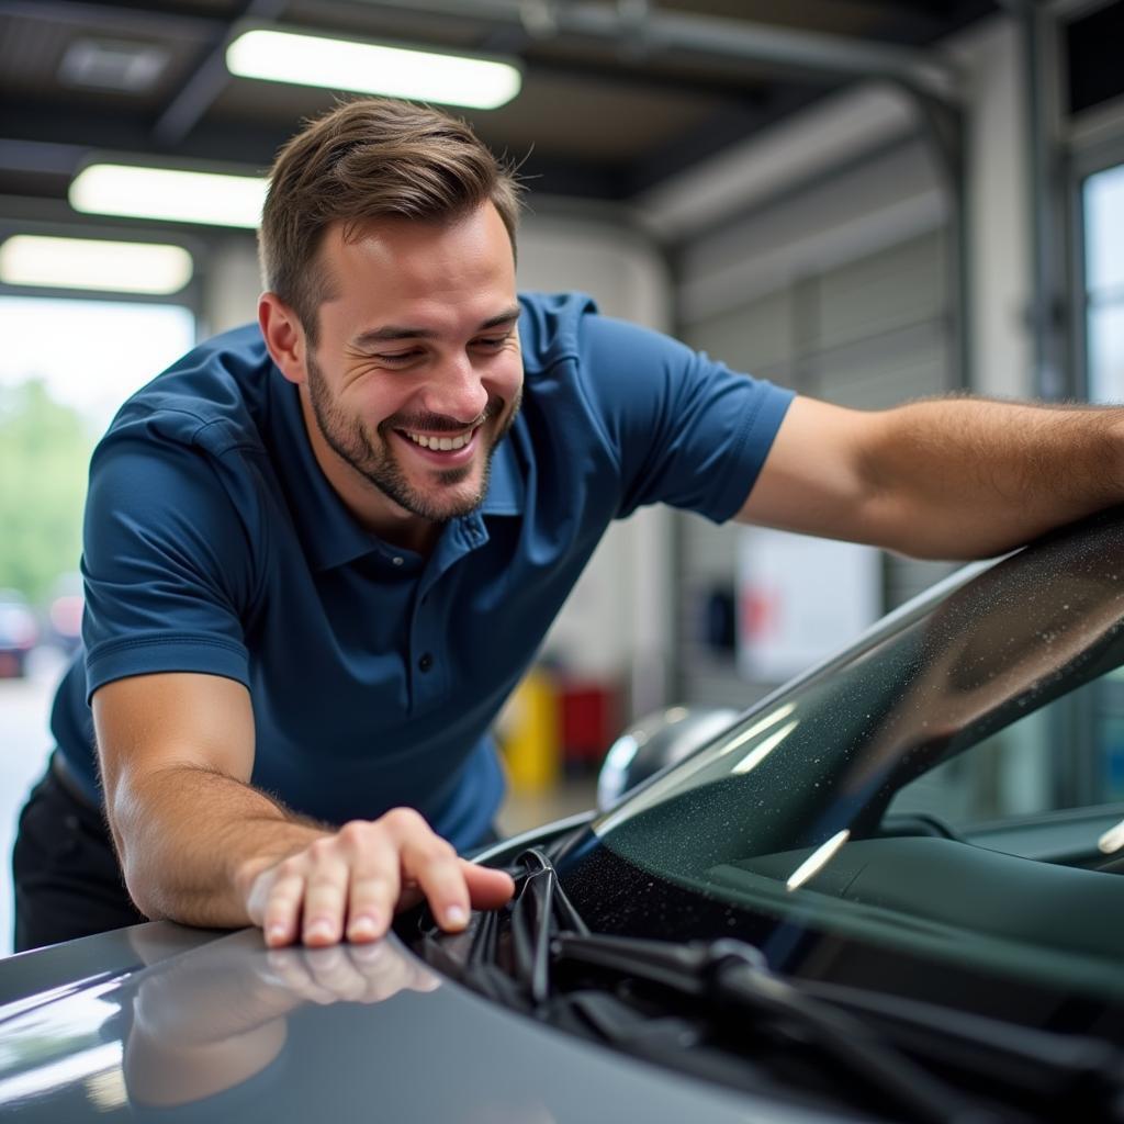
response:
[(0, 387), (0, 587), (43, 602), (78, 569), (93, 439), (40, 379)]

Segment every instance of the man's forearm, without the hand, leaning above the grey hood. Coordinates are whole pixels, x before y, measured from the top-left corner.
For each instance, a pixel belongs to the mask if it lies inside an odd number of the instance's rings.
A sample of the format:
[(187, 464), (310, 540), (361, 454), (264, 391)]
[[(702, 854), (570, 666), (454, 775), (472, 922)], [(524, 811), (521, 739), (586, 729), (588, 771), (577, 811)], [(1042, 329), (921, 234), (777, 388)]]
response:
[(140, 912), (219, 928), (250, 924), (246, 891), (257, 873), (330, 834), (248, 785), (193, 765), (121, 785), (110, 819)]

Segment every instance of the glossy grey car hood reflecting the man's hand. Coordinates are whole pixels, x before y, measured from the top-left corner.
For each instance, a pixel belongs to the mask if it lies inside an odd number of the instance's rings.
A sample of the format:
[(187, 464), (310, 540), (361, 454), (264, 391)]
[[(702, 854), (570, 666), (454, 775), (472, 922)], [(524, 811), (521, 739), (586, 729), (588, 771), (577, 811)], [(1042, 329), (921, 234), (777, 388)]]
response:
[(393, 936), (271, 952), (257, 931), (142, 925), (11, 958), (0, 998), (0, 1115), (19, 1120), (828, 1118), (538, 1025)]

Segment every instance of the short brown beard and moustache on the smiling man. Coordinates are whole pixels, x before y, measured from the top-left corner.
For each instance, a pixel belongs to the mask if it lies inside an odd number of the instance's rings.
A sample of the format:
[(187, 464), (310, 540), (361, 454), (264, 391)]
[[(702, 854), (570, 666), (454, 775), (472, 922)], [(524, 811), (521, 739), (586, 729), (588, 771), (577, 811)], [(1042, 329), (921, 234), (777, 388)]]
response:
[[(393, 430), (417, 429), (430, 434), (463, 433), (466, 428), (464, 424), (437, 414), (413, 417), (393, 415), (379, 424), (381, 447), (378, 447), (363, 423), (359, 418), (347, 417), (336, 405), (328, 390), (324, 372), (311, 355), (307, 357), (307, 366), (312, 415), (324, 439), (341, 460), (350, 464), (364, 480), (378, 488), (400, 508), (433, 523), (447, 523), (450, 519), (469, 515), (483, 502), (484, 496), (488, 495), (492, 454), (515, 423), (515, 416), (519, 410), (519, 397), (515, 399), (511, 410), (486, 451), (479, 487), (468, 495), (445, 495), (447, 490), (465, 481), (475, 471), (475, 461), (473, 460), (473, 463), (455, 469), (430, 470), (434, 481), (432, 491), (435, 495), (426, 495), (410, 484), (399, 465), (392, 452), (391, 443), (397, 439)], [(501, 400), (490, 399), (481, 417), (473, 424), (482, 427), (497, 417), (502, 409)], [(478, 436), (480, 439), (484, 438), (482, 433)]]

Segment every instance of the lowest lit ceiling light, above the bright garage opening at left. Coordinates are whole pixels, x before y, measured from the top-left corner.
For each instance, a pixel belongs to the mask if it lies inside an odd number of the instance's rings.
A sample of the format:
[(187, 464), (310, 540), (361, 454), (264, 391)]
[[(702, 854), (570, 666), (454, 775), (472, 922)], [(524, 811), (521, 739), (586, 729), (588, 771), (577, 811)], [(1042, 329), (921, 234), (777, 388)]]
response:
[(4, 284), (167, 296), (191, 280), (192, 268), (182, 246), (147, 242), (17, 234), (0, 245)]

